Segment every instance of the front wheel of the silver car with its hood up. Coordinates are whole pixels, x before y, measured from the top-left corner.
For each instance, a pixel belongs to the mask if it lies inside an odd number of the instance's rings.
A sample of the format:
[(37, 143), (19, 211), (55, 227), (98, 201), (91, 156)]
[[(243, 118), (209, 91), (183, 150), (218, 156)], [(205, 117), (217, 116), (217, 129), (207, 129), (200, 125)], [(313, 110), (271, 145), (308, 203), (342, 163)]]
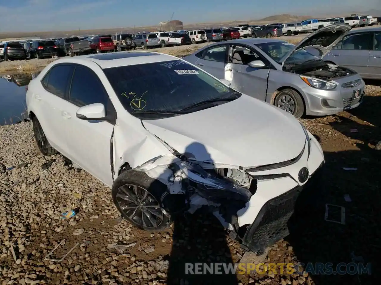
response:
[(304, 103), (302, 97), (293, 89), (283, 89), (274, 100), (274, 105), (292, 114), (299, 119), (304, 114)]

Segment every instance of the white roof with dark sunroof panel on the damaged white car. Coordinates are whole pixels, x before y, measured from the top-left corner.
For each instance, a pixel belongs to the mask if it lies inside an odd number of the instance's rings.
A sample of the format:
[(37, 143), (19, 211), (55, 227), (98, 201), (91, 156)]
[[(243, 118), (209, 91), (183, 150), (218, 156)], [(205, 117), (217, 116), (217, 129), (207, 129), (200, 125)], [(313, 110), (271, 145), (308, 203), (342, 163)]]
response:
[(54, 63), (78, 63), (84, 64), (86, 62), (94, 62), (101, 68), (121, 67), (126, 65), (138, 65), (153, 62), (165, 62), (171, 60), (179, 60), (179, 58), (161, 54), (159, 52), (146, 52), (146, 51), (122, 51), (122, 52), (108, 52), (104, 54), (85, 54), (76, 57), (64, 57), (55, 60)]

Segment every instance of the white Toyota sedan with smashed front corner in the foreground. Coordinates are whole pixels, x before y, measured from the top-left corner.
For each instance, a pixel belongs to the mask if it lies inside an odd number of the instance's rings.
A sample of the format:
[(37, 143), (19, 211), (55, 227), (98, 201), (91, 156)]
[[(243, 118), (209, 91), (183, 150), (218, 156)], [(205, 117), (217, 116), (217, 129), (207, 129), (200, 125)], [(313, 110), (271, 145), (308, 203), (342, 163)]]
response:
[(291, 114), (170, 55), (59, 59), (26, 101), (41, 152), (111, 187), (122, 216), (144, 230), (204, 206), (261, 253), (288, 234), (296, 197), (324, 162)]

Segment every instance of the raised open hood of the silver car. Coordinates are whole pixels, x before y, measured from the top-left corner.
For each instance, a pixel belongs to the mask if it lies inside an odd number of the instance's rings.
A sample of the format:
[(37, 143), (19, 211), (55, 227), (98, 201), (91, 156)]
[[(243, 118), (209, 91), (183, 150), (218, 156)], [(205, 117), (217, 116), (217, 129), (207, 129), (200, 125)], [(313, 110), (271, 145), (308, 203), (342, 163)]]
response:
[(282, 67), (285, 61), (299, 49), (315, 48), (320, 52), (320, 59), (323, 59), (323, 57), (330, 52), (332, 47), (344, 38), (351, 28), (352, 27), (347, 24), (333, 24), (311, 33), (297, 44), (294, 50), (283, 59)]

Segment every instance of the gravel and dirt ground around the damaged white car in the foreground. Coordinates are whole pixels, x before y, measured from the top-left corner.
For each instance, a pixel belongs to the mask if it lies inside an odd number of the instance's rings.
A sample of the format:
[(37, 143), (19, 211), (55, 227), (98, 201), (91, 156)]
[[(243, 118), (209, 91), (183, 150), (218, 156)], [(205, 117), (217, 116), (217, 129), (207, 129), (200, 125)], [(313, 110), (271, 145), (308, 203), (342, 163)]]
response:
[[(366, 91), (363, 105), (351, 112), (301, 119), (321, 138), (326, 159), (322, 185), (304, 193), (314, 197), (313, 204), (306, 204), (308, 199), (303, 196), (298, 200), (290, 235), (271, 247), (267, 263), (362, 260), (379, 268), (381, 152), (374, 145), (381, 140), (381, 119), (375, 108), (380, 104), (381, 87), (368, 85)], [(344, 199), (346, 195), (351, 202)], [(345, 225), (324, 220), (325, 203), (346, 208)], [(62, 212), (75, 208), (79, 212), (73, 218), (59, 218)], [(2, 285), (185, 285), (192, 280), (189, 275), (185, 280), (177, 267), (184, 256), (194, 262), (238, 262), (244, 253), (225, 236), (218, 222), (205, 214), (176, 220), (166, 232), (134, 228), (121, 220), (109, 188), (73, 168), (59, 154), (48, 158), (36, 152), (30, 122), (0, 127), (0, 209)], [(74, 235), (79, 229), (84, 232)], [(62, 239), (65, 244), (54, 253), (57, 258), (77, 242), (80, 245), (60, 263), (45, 261)], [(112, 246), (121, 242), (136, 245), (119, 253)], [(153, 252), (142, 250), (152, 245)], [(371, 284), (376, 280), (374, 274), (287, 275), (278, 271), (237, 275), (231, 282), (226, 276), (219, 280), (213, 275), (207, 283), (360, 285)]]

